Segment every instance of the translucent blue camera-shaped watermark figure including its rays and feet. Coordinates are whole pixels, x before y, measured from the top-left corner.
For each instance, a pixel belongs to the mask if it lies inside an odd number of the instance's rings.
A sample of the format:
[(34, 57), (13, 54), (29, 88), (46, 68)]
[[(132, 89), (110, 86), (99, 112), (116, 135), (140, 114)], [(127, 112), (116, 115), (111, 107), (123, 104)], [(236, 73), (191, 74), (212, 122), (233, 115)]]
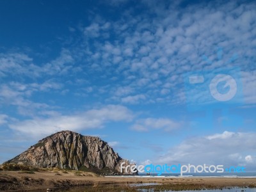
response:
[(184, 74), (187, 109), (191, 113), (204, 111), (205, 116), (195, 121), (207, 122), (207, 127), (213, 127), (216, 123), (216, 120), (213, 120), (214, 110), (220, 111), (218, 114), (223, 120), (221, 125), (239, 127), (243, 124), (243, 120), (240, 116), (230, 114), (230, 109), (243, 106), (240, 68), (230, 65), (236, 60), (236, 56), (232, 56), (224, 63), (222, 62), (222, 49), (218, 50), (217, 55), (218, 61), (211, 61), (204, 56), (204, 60), (209, 63), (208, 67), (212, 67), (211, 70), (191, 71)]

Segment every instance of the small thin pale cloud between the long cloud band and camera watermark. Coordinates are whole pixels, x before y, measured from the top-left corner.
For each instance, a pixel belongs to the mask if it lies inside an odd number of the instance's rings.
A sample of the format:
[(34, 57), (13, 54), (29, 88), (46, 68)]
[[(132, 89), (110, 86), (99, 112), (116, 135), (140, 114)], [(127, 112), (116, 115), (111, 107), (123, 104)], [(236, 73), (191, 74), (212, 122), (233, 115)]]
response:
[(150, 129), (163, 129), (164, 131), (173, 131), (180, 128), (182, 122), (175, 122), (168, 118), (144, 118), (137, 120), (131, 129), (135, 131), (149, 131)]

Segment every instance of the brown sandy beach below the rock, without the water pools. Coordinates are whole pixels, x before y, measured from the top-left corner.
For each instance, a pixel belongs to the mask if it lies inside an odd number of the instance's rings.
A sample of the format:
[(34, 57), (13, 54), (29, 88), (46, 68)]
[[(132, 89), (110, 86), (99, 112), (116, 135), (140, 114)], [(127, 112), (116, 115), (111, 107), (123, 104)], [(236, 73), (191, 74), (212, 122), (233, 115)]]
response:
[[(127, 191), (131, 184), (160, 184), (170, 189), (220, 189), (227, 187), (256, 188), (256, 178), (226, 178), (226, 177), (104, 177), (90, 172), (74, 171), (44, 171), (44, 172), (0, 172), (0, 190), (30, 190), (30, 189), (58, 189), (90, 186), (91, 191), (98, 191), (99, 186), (117, 185), (125, 187)], [(105, 187), (104, 187), (105, 188)], [(118, 189), (116, 188), (118, 191)], [(108, 191), (105, 188), (104, 191)], [(109, 188), (109, 191), (112, 191)]]

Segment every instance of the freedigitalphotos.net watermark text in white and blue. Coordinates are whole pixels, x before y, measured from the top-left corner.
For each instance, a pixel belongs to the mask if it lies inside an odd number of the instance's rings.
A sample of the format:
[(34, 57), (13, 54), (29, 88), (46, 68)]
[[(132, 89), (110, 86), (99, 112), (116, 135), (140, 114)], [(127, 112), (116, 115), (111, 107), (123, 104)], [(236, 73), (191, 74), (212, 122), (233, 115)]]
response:
[(218, 165), (207, 165), (207, 164), (172, 164), (168, 166), (168, 164), (147, 164), (144, 165), (127, 165), (124, 166), (125, 163), (120, 165), (120, 172), (121, 173), (157, 173), (158, 176), (162, 175), (163, 173), (180, 173), (182, 176), (184, 173), (244, 173), (245, 168), (243, 166), (230, 166), (228, 168), (224, 168), (222, 164)]

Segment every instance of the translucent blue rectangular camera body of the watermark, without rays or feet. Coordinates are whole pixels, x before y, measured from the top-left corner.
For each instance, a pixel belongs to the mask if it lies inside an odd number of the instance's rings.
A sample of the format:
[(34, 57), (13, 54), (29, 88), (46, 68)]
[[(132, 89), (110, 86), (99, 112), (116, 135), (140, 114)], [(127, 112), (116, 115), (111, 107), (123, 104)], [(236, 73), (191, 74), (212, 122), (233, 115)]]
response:
[(220, 106), (241, 106), (243, 88), (240, 68), (194, 71), (184, 75), (186, 102), (190, 111)]

